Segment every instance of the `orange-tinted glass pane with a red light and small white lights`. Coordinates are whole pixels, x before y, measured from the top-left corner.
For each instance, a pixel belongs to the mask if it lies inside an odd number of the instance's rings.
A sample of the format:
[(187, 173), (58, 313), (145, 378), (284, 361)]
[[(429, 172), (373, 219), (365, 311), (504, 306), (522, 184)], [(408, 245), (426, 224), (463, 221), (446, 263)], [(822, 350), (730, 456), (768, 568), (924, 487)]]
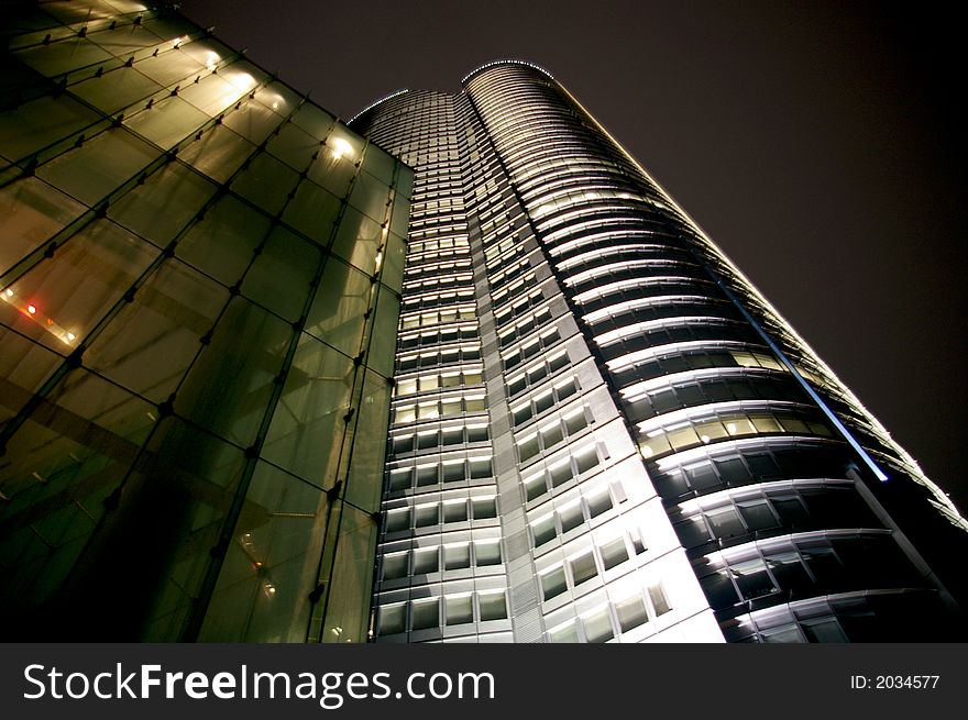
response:
[[(157, 250), (108, 221), (85, 228), (3, 290), (0, 318), (68, 353), (129, 290)], [(31, 308), (33, 311), (31, 311)]]

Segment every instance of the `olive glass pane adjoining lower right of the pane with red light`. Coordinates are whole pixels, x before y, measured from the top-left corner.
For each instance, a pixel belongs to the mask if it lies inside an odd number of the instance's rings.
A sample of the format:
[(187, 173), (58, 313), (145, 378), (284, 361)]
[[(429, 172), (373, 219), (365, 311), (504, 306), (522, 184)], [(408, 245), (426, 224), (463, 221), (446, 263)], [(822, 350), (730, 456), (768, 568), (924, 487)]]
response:
[(163, 263), (85, 355), (105, 377), (155, 402), (175, 390), (199, 339), (229, 300), (222, 286), (177, 259)]

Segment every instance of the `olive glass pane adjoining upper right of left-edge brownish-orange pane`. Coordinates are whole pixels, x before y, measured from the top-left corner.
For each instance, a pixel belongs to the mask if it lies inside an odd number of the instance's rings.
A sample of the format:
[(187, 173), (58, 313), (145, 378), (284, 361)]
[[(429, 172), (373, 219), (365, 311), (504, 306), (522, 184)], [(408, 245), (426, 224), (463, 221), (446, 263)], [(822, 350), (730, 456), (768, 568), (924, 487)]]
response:
[(131, 133), (108, 130), (81, 147), (42, 165), (37, 177), (82, 202), (95, 204), (157, 156), (157, 149)]

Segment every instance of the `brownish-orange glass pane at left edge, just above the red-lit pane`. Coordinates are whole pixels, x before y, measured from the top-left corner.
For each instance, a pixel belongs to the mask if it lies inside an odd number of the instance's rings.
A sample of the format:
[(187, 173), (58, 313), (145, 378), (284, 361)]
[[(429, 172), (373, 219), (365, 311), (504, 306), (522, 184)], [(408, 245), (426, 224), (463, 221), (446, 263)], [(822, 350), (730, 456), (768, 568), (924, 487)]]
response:
[(9, 270), (85, 208), (41, 180), (22, 178), (0, 189), (0, 274)]

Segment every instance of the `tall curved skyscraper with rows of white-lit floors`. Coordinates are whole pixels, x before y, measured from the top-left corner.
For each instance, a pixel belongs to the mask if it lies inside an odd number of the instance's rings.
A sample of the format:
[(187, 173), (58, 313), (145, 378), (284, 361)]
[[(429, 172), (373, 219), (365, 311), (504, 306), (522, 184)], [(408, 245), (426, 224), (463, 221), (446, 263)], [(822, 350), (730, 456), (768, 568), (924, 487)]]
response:
[(548, 73), (350, 125), (416, 169), (378, 641), (965, 638), (965, 520)]

